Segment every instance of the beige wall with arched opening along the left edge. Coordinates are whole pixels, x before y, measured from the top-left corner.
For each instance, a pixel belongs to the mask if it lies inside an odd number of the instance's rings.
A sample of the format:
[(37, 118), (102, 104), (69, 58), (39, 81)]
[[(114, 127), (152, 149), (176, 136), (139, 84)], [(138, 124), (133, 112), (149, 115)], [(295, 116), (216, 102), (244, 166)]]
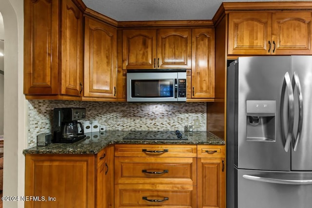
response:
[[(4, 22), (4, 168), (3, 195), (24, 196), (26, 104), (23, 95), (23, 0), (1, 0)], [(3, 202), (4, 208), (24, 203)]]

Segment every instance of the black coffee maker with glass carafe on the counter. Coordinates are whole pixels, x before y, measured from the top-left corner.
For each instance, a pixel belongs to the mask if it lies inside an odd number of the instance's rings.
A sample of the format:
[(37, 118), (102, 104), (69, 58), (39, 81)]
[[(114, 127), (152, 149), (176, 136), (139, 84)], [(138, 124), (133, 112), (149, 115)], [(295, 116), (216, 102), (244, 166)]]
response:
[(78, 120), (86, 117), (85, 108), (53, 110), (53, 143), (74, 143), (86, 137)]

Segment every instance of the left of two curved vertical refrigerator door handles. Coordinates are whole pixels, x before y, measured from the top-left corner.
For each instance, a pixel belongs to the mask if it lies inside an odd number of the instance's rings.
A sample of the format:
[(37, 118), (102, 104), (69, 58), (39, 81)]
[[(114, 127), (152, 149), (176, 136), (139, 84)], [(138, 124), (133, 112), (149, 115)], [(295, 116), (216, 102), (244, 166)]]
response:
[[(288, 130), (287, 130), (287, 135), (285, 136), (285, 131), (284, 131), (284, 96), (285, 96), (285, 91), (287, 88), (287, 93), (288, 93)], [(281, 96), (281, 108), (280, 108), (280, 113), (281, 113), (281, 130), (282, 130), (282, 135), (285, 138), (285, 146), (284, 150), (287, 152), (290, 148), (291, 142), (292, 142), (292, 130), (293, 130), (293, 122), (294, 122), (294, 101), (293, 101), (293, 91), (292, 91), (292, 81), (291, 77), (289, 76), (289, 73), (286, 72), (284, 76), (284, 82), (282, 86), (282, 96)]]

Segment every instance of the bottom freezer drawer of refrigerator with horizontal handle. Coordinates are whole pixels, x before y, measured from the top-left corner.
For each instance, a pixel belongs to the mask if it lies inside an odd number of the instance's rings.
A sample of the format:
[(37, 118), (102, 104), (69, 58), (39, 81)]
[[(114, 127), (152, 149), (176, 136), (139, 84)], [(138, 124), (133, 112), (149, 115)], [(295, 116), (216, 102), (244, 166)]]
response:
[(235, 171), (235, 208), (311, 208), (312, 172)]

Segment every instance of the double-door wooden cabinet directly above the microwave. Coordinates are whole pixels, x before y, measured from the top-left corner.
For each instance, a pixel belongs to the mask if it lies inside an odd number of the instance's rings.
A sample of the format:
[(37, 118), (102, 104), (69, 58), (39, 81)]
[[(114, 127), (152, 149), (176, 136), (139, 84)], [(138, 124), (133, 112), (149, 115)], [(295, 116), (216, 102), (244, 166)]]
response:
[(123, 30), (123, 69), (191, 69), (192, 29)]

